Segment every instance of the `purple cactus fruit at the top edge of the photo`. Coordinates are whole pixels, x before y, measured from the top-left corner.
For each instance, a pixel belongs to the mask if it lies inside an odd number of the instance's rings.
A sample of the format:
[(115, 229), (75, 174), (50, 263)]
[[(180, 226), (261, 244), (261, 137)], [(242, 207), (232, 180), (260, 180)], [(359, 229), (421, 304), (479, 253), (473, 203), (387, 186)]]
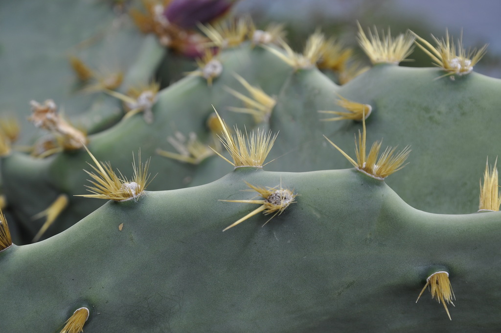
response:
[(180, 28), (193, 29), (197, 23), (205, 24), (223, 15), (231, 5), (231, 0), (173, 0), (164, 15)]

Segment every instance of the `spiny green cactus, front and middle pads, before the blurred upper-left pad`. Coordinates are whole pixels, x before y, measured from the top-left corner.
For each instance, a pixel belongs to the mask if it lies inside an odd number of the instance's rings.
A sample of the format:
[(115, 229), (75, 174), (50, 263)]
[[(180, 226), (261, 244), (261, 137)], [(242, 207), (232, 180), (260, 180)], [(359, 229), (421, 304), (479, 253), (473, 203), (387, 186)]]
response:
[[(215, 16), (229, 7), (213, 3)], [(104, 107), (99, 121), (73, 126), (81, 122), (64, 119), (57, 99), (34, 101), (31, 118), (50, 133), (28, 140), (31, 154), (12, 124), (0, 126), (0, 327), (498, 326), (482, 309), (500, 296), (491, 291), (500, 219), (467, 214), (501, 139), (501, 81), (472, 72), (485, 48), (466, 53), (447, 33), (436, 48), (411, 32), (380, 38), (359, 25), (373, 66), (350, 77), (351, 52), (320, 31), (296, 53), (280, 25), (258, 30), (242, 18), (197, 31), (183, 16), (164, 21), (182, 1), (144, 5), (132, 17), (158, 39), (140, 38), (123, 83), (105, 85), (72, 58), (77, 79), (92, 81), (84, 89), (120, 114)], [(398, 65), (414, 39), (438, 68)], [(179, 73), (166, 76), (160, 59), (192, 51), (200, 58), (186, 77), (166, 86)], [(383, 137), (395, 148), (382, 150)], [(499, 210), (499, 198), (487, 163), (478, 210)], [(21, 245), (32, 240), (41, 241)]]

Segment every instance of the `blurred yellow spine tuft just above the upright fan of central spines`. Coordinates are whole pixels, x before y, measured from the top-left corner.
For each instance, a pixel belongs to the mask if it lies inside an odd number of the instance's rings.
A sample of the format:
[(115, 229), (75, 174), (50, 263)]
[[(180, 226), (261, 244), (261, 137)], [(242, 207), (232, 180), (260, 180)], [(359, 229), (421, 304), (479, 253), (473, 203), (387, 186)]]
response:
[(277, 101), (275, 98), (266, 94), (261, 88), (254, 87), (250, 85), (244, 78), (238, 74), (233, 74), (233, 76), (241, 83), (241, 85), (247, 89), (250, 96), (247, 97), (236, 90), (229, 87), (224, 87), (226, 91), (240, 99), (246, 107), (229, 107), (228, 109), (233, 112), (248, 113), (254, 117), (256, 123), (266, 122), (270, 119), (275, 104)]

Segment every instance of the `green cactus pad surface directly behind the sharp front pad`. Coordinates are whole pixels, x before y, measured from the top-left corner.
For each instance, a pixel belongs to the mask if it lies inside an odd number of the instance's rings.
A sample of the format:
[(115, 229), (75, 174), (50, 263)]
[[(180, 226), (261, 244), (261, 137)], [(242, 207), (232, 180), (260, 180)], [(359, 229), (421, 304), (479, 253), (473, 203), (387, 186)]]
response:
[[(476, 73), (460, 77), (454, 82), (447, 78), (436, 80), (441, 76), (437, 69), (379, 64), (348, 84), (338, 86), (316, 68), (295, 72), (268, 50), (250, 49), (248, 44), (223, 51), (218, 57), (224, 70), (210, 87), (204, 78), (190, 76), (158, 93), (157, 102), (152, 107), (152, 124), (146, 123), (138, 115), (124, 119), (107, 131), (89, 135), (89, 148), (96, 158), (110, 160), (115, 168), (125, 174), (130, 170), (131, 153), (141, 148), (143, 156), (152, 156), (151, 173), (158, 174), (157, 181), (151, 184), (151, 190), (199, 185), (223, 176), (228, 169), (216, 156), (209, 156), (198, 165), (190, 166), (161, 157), (155, 151), (159, 148), (172, 151), (173, 147), (166, 138), (175, 136), (176, 132), (184, 135), (193, 132), (202, 142), (209, 144), (213, 134), (205, 122), (212, 113), (211, 104), (230, 123), (238, 121), (240, 127), (242, 122), (248, 129), (255, 127), (254, 119), (225, 109), (242, 105), (241, 101), (226, 91), (228, 86), (233, 87), (233, 90), (238, 89), (234, 84), (237, 82), (233, 76), (235, 72), (242, 78), (246, 77), (246, 82), (251, 85), (256, 85), (259, 80), (262, 82), (260, 87), (268, 95), (276, 96), (276, 105), (266, 116), (269, 117), (268, 121), (259, 125), (273, 132), (280, 131), (273, 151), (278, 158), (269, 165), (270, 170), (300, 172), (349, 167), (350, 164), (323, 144), (323, 135), (348, 151), (353, 146), (352, 135), (360, 128), (360, 124), (324, 122), (321, 119), (325, 116), (317, 112), (339, 110), (336, 104), (339, 94), (372, 106), (372, 115), (367, 119), (369, 137), (384, 137), (385, 142), (392, 146), (400, 144), (412, 147), (414, 153), (409, 158), (408, 167), (388, 181), (406, 202), (430, 212), (467, 213), (474, 210), (476, 182), (482, 165), (479, 161), (486, 156), (496, 155), (491, 142), (495, 142), (498, 136), (493, 115), (496, 101), (499, 100), (496, 94), (498, 80)], [(241, 59), (248, 62), (242, 63)], [(274, 72), (270, 73), (263, 64), (270, 64), (275, 68)], [(254, 73), (251, 73), (250, 68), (256, 68)], [(410, 77), (413, 79), (410, 80)], [(402, 96), (402, 86), (408, 87), (406, 89), (413, 94)], [(242, 88), (238, 92), (247, 95), (245, 88)], [(190, 119), (200, 120), (193, 123)], [(474, 132), (477, 135), (464, 136), (458, 141), (455, 138), (461, 132)], [(120, 144), (117, 147), (113, 142)], [(301, 157), (305, 155), (309, 157)], [(471, 158), (457, 164), (457, 156), (464, 155)], [(43, 221), (34, 224), (32, 216), (49, 207), (62, 193), (72, 198), (70, 206), (78, 206), (76, 209), (82, 211), (69, 218), (73, 221), (71, 223), (100, 205), (73, 197), (83, 194), (85, 190), (86, 175), (80, 172), (85, 168), (85, 161), (89, 159), (83, 150), (61, 153), (43, 160), (29, 158), (18, 152), (4, 158), (2, 173), (8, 201), (12, 207), (18, 206), (15, 214), (25, 221), (23, 224), (32, 230), (33, 235)], [(21, 168), (20, 163), (25, 166)], [(33, 178), (30, 181), (33, 189), (30, 191), (37, 195), (32, 197), (32, 204), (26, 205), (30, 198), (26, 198), (26, 190), (21, 188), (27, 178), (26, 170), (32, 168), (40, 175), (46, 175), (46, 178), (35, 177), (34, 174), (28, 176)], [(447, 171), (445, 177), (444, 170)], [(451, 182), (452, 174), (461, 175), (461, 181)], [(186, 181), (188, 178), (192, 181)], [(39, 184), (35, 185), (35, 182)], [(469, 206), (464, 202), (469, 202)], [(85, 206), (89, 208), (84, 209)], [(63, 229), (68, 226), (62, 222), (68, 220), (65, 214), (71, 214), (71, 210), (63, 212), (61, 216), (60, 225)], [(52, 234), (60, 230), (53, 229)]]

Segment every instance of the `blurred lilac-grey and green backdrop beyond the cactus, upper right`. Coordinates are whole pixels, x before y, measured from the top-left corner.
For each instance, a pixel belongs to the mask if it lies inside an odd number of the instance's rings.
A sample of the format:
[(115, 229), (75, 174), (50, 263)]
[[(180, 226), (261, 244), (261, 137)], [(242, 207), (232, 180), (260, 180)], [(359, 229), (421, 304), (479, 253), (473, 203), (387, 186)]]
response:
[[(347, 45), (356, 46), (356, 21), (364, 29), (387, 29), (392, 33), (410, 29), (431, 41), (445, 36), (461, 36), (466, 48), (488, 44), (487, 54), (475, 71), (501, 78), (501, 1), (498, 0), (240, 0), (238, 14), (250, 14), (256, 22), (288, 24), (289, 41), (301, 44), (305, 36), (320, 27), (327, 35), (339, 36)], [(303, 42), (304, 43), (304, 42)], [(434, 44), (434, 43), (432, 43)], [(296, 46), (296, 48), (302, 46)], [(403, 66), (430, 66), (419, 49), (411, 55), (414, 63)]]

